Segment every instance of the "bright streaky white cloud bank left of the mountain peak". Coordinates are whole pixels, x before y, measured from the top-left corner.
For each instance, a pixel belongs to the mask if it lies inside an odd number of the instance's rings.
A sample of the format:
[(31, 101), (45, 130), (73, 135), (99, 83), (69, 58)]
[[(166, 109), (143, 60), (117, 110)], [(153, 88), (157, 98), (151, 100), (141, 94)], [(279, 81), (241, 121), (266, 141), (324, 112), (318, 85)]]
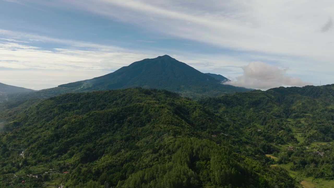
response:
[[(35, 46), (0, 42), (0, 67), (14, 69), (110, 70), (153, 58), (148, 54), (93, 50), (42, 50)], [(14, 62), (14, 63), (13, 63)]]

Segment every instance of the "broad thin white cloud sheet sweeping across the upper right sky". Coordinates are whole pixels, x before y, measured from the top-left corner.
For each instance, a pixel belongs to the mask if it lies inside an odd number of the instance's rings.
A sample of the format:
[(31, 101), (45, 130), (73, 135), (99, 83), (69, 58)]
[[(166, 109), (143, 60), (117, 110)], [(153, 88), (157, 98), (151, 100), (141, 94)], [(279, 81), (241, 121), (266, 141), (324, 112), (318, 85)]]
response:
[(308, 59), (296, 62), (290, 66), (292, 69), (300, 66), (310, 66), (315, 71), (334, 68), (331, 64), (333, 30), (320, 32), (322, 23), (334, 12), (332, 0), (208, 0), (205, 4), (199, 0), (39, 2), (81, 8), (229, 50)]

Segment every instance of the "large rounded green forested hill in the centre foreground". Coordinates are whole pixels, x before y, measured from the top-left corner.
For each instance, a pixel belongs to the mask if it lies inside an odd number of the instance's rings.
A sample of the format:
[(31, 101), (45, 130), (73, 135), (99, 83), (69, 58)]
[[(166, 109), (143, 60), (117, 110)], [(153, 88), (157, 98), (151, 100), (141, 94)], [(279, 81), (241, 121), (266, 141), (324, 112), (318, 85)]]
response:
[(66, 188), (107, 183), (291, 188), (296, 183), (265, 157), (277, 151), (267, 139), (284, 140), (278, 134), (284, 127), (262, 134), (166, 90), (65, 94), (6, 121), (0, 135), (4, 188), (43, 187), (50, 181)]

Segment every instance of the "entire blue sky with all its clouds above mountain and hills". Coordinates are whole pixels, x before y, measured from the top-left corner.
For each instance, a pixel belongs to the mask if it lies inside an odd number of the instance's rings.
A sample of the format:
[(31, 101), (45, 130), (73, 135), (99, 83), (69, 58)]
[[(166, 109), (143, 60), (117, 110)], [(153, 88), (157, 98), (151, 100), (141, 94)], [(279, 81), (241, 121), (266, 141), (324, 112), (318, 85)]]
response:
[(32, 89), (168, 54), (236, 86), (334, 83), (332, 1), (0, 0), (0, 82)]

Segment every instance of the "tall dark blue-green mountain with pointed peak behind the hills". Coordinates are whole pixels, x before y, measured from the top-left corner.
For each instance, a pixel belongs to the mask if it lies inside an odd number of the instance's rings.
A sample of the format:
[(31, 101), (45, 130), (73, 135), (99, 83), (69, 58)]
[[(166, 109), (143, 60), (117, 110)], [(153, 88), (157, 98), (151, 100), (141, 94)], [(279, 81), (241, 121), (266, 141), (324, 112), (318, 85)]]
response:
[(59, 88), (76, 88), (80, 91), (110, 90), (118, 88), (156, 88), (178, 92), (188, 97), (215, 96), (246, 88), (220, 84), (220, 80), (164, 55), (144, 59), (129, 66), (90, 80), (59, 85)]

